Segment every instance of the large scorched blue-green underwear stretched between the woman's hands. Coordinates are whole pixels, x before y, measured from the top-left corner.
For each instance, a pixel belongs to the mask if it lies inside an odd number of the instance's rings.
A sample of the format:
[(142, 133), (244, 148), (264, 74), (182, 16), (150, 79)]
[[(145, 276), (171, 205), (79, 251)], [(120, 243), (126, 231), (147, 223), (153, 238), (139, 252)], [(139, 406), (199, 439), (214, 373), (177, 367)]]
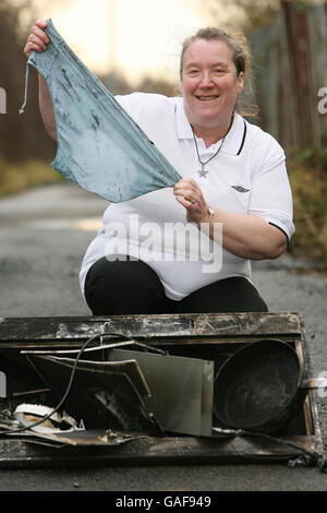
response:
[(33, 51), (26, 64), (46, 80), (57, 123), (58, 148), (51, 166), (69, 180), (105, 200), (121, 202), (165, 187), (181, 177), (74, 55), (47, 20), (50, 43)]

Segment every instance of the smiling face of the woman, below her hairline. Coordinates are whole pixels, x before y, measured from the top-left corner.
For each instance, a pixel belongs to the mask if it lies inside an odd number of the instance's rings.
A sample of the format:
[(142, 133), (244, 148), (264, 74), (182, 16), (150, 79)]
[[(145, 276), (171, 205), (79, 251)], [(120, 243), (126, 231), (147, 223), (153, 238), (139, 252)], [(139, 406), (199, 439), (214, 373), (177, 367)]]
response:
[(181, 87), (191, 124), (214, 128), (230, 121), (244, 80), (232, 58), (225, 40), (195, 39), (186, 48)]

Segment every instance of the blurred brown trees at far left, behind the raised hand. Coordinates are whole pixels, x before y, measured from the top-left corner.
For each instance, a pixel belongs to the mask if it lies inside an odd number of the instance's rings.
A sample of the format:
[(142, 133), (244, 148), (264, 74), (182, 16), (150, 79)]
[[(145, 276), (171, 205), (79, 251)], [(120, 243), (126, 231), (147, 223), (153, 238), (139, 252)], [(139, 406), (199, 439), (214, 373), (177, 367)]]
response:
[[(15, 3), (1, 0), (0, 4), (0, 87), (7, 93), (7, 114), (0, 114), (0, 156), (8, 160), (27, 157), (49, 158), (53, 142), (45, 132), (38, 108), (37, 75), (31, 70), (28, 104), (23, 116), (19, 109), (23, 103), (26, 57), (23, 48), (27, 32), (22, 31), (21, 13), (35, 19), (32, 2)], [(31, 23), (28, 26), (31, 26)]]

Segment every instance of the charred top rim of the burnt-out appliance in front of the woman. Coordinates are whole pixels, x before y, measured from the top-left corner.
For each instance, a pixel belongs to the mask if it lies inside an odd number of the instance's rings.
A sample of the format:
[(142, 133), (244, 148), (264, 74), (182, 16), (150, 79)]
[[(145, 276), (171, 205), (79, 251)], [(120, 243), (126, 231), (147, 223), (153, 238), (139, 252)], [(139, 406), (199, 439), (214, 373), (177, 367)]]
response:
[[(295, 312), (274, 313), (190, 313), (161, 315), (112, 315), (73, 318), (0, 318), (1, 347), (81, 346), (100, 333), (122, 338), (134, 337), (233, 337), (301, 334), (300, 315)], [(97, 344), (97, 342), (95, 343)]]

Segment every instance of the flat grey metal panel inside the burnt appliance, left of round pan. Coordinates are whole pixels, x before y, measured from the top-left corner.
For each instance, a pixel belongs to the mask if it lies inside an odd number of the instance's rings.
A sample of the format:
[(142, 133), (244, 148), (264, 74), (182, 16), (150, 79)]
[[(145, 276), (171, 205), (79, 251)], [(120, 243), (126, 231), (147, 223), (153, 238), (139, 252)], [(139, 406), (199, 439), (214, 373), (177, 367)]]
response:
[(214, 362), (112, 349), (110, 361), (134, 359), (150, 390), (145, 408), (166, 431), (211, 436)]

